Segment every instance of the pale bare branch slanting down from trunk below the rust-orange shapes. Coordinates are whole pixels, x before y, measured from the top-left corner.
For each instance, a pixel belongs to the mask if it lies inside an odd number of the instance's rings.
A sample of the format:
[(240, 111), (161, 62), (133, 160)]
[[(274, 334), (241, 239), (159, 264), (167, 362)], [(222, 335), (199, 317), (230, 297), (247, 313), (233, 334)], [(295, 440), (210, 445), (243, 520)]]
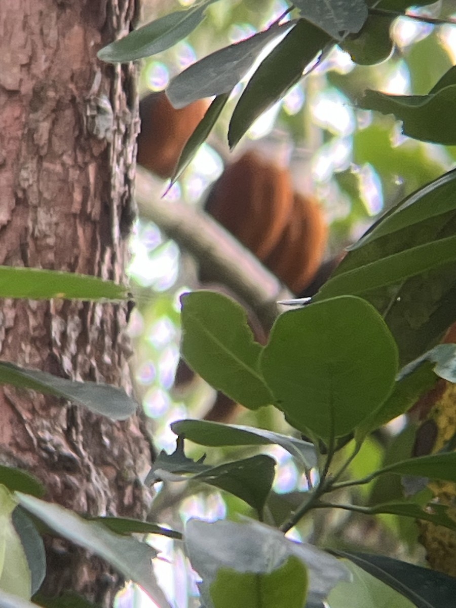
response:
[(255, 311), (264, 328), (271, 328), (283, 311), (277, 301), (292, 294), (252, 252), (204, 211), (159, 199), (156, 181), (141, 167), (137, 168), (136, 202), (142, 218), (153, 221), (196, 258), (207, 281), (226, 285)]

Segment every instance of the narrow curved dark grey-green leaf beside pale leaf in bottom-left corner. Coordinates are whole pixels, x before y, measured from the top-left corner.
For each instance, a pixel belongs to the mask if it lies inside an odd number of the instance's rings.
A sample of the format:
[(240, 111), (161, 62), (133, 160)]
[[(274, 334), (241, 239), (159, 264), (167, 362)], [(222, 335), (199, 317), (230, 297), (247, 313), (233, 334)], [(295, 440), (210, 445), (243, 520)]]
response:
[(26, 554), (30, 576), (32, 577), (31, 593), (33, 595), (40, 589), (44, 576), (46, 576), (46, 553), (44, 552), (43, 539), (21, 506), (16, 506), (12, 514), (12, 520)]

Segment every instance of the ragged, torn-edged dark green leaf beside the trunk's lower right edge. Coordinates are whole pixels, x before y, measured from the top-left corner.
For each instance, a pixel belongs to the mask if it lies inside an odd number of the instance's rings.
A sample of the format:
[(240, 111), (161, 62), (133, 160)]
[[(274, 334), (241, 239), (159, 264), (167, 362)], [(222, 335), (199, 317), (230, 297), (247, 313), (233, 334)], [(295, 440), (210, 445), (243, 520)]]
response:
[(244, 500), (258, 513), (263, 512), (274, 481), (274, 458), (260, 454), (219, 466), (203, 465), (204, 458), (205, 455), (196, 462), (187, 458), (184, 437), (178, 437), (176, 451), (171, 455), (162, 451), (144, 483), (150, 485), (161, 480), (204, 482)]

